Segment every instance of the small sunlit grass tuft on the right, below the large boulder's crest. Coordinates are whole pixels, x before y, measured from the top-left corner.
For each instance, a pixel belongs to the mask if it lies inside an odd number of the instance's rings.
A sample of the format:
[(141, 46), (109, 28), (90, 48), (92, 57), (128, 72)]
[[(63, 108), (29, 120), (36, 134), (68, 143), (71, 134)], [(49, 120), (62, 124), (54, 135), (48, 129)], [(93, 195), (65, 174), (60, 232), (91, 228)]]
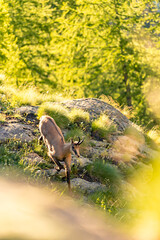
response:
[(105, 115), (101, 115), (98, 119), (92, 122), (93, 136), (107, 139), (109, 134), (116, 131), (116, 126)]

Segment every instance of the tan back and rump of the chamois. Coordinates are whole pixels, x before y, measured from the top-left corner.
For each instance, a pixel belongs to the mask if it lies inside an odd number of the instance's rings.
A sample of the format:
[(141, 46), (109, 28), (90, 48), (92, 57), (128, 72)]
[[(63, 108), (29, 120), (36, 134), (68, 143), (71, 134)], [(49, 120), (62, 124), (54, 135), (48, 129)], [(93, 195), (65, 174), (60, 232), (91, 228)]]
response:
[(40, 118), (39, 129), (50, 145), (55, 147), (57, 144), (65, 143), (61, 129), (50, 116), (45, 115)]

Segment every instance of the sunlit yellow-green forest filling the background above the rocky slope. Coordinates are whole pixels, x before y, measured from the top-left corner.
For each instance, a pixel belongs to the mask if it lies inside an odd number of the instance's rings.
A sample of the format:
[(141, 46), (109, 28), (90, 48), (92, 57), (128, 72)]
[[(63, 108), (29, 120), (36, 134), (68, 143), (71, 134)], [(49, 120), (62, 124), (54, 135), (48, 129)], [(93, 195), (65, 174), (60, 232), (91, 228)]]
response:
[(159, 14), (149, 0), (1, 0), (1, 86), (110, 96), (134, 122), (157, 126)]

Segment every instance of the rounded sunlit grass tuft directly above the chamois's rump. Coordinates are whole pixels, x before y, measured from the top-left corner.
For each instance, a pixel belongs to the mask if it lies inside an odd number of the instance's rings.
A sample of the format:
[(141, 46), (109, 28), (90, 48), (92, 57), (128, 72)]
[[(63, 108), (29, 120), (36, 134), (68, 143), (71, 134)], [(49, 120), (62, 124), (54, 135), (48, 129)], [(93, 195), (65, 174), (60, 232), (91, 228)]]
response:
[(38, 109), (38, 119), (40, 119), (42, 115), (49, 115), (54, 118), (60, 128), (67, 127), (70, 122), (68, 110), (57, 103), (43, 103)]

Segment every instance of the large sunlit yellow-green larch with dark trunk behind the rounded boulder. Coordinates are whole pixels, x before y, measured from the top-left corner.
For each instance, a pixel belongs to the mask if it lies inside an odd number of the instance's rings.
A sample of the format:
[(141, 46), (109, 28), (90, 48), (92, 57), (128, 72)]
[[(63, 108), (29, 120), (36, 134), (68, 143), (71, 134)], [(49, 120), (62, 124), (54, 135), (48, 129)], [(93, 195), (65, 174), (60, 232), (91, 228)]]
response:
[[(156, 19), (149, 0), (65, 2), (51, 44), (57, 61), (53, 68), (62, 88), (74, 89), (75, 96), (111, 95), (121, 105), (141, 107), (145, 101), (142, 86), (154, 74), (145, 61), (140, 36)], [(84, 94), (84, 95), (83, 95)]]

